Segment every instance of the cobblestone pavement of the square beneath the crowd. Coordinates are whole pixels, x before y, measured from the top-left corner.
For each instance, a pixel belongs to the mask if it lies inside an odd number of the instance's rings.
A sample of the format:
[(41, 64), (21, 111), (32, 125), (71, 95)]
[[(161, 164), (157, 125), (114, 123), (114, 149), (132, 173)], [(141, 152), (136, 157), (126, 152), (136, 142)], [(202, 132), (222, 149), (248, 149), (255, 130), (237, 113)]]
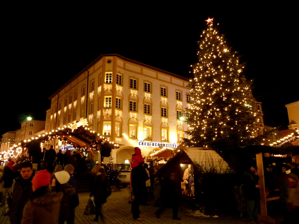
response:
[[(79, 223), (96, 223), (93, 221), (94, 215), (83, 215), (87, 201), (89, 198), (89, 192), (79, 193), (80, 205), (76, 208), (75, 224)], [(181, 220), (172, 219), (172, 210), (166, 209), (161, 214), (161, 218), (158, 219), (155, 216), (157, 208), (154, 207), (154, 202), (148, 202), (148, 206), (140, 206), (140, 216), (144, 217), (144, 221), (134, 221), (131, 214), (131, 204), (128, 203), (129, 193), (126, 188), (122, 188), (120, 191), (113, 191), (107, 198), (107, 203), (103, 204), (102, 212), (105, 217), (106, 224), (129, 224), (129, 223), (199, 223), (199, 224), (246, 224), (249, 223), (248, 218), (240, 218), (231, 215), (224, 215), (219, 217), (199, 217), (192, 214), (191, 211), (187, 211), (183, 208), (179, 209), (179, 217)], [(8, 216), (2, 215), (2, 209), (0, 208), (0, 224), (10, 224)], [(281, 218), (273, 217), (277, 220), (276, 223), (280, 223)], [(65, 222), (66, 223), (66, 222)], [(101, 223), (101, 221), (99, 221)]]

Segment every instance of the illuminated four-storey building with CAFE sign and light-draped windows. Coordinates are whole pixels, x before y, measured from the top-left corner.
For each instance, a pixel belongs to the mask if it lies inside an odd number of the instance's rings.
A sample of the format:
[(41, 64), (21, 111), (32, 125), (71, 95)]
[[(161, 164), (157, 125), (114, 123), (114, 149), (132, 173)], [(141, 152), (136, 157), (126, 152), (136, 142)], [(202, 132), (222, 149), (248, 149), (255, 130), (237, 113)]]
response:
[(49, 98), (46, 131), (87, 119), (88, 128), (122, 145), (112, 151), (114, 162), (130, 160), (136, 146), (143, 156), (176, 148), (187, 137), (181, 119), (188, 82), (117, 54), (101, 55)]

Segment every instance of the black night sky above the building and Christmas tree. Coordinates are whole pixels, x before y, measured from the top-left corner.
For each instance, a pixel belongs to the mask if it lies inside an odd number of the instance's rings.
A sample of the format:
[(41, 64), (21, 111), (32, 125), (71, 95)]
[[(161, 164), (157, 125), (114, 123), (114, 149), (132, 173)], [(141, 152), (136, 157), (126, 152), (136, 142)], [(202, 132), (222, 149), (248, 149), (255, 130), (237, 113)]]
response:
[(29, 114), (45, 120), (48, 98), (101, 54), (117, 53), (191, 78), (208, 17), (246, 62), (243, 74), (254, 79), (253, 95), (262, 102), (265, 125), (287, 129), (284, 105), (299, 100), (295, 7), (128, 4), (7, 9), (0, 135), (19, 129)]

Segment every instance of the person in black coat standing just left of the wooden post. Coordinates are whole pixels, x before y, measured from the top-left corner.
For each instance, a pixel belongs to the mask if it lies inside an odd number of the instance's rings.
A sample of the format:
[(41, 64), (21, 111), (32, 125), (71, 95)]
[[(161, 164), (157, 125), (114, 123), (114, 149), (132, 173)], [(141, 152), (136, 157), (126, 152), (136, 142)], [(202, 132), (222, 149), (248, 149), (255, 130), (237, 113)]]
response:
[(244, 198), (247, 200), (247, 213), (251, 223), (258, 222), (258, 203), (260, 202), (260, 177), (254, 165), (249, 165), (249, 169), (243, 174)]

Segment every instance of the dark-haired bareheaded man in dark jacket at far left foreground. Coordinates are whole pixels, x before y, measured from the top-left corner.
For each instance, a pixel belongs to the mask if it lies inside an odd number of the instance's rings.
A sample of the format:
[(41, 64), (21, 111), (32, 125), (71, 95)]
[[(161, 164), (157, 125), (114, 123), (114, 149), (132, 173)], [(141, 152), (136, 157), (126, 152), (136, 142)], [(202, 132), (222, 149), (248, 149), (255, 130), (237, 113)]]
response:
[(30, 162), (20, 164), (20, 176), (10, 188), (7, 197), (9, 220), (11, 224), (21, 223), (25, 203), (32, 195), (33, 166)]

